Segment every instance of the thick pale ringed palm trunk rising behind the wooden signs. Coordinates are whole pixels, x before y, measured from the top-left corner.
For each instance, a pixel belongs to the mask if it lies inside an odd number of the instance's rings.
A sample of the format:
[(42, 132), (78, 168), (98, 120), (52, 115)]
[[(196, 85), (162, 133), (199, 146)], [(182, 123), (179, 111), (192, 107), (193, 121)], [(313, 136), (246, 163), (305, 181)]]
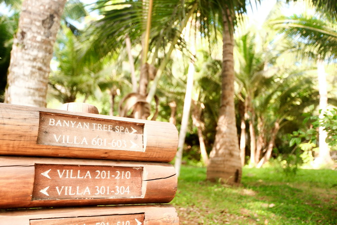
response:
[(23, 2), (11, 53), (7, 103), (46, 107), (49, 64), (65, 2)]

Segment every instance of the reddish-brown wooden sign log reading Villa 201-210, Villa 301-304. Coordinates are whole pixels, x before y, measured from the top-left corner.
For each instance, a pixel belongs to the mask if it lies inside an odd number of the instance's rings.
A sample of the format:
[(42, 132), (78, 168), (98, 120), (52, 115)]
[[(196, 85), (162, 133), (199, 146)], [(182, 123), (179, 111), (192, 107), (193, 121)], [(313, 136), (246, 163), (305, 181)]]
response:
[(177, 191), (168, 163), (0, 157), (0, 208), (167, 203)]

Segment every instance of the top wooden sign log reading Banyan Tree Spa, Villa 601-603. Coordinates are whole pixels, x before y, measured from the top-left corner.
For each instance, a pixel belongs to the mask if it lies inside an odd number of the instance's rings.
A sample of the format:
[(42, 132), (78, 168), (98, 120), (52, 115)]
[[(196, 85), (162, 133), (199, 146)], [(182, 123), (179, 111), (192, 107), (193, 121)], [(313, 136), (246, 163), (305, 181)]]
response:
[(170, 162), (178, 131), (167, 122), (0, 103), (0, 154)]

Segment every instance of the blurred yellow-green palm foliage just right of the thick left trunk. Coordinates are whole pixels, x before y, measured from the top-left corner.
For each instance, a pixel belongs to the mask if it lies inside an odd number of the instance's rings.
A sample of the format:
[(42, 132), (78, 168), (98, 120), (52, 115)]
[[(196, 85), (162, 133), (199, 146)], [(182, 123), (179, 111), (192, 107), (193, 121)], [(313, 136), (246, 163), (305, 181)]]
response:
[(75, 102), (77, 94), (85, 95), (85, 100), (93, 95), (99, 89), (100, 72), (109, 62), (109, 58), (83, 62), (78, 57), (82, 47), (78, 39), (70, 28), (62, 25), (54, 52), (57, 63), (49, 77), (50, 93), (61, 103)]

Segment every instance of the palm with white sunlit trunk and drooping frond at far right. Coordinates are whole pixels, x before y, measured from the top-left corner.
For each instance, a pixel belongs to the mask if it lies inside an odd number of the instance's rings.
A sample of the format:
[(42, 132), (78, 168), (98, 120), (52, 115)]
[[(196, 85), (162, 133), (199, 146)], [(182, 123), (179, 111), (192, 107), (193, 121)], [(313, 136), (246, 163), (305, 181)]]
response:
[[(314, 3), (314, 1), (313, 1)], [(308, 1), (308, 7), (315, 14), (300, 14), (290, 17), (279, 18), (272, 22), (274, 26), (281, 28), (282, 31), (294, 40), (297, 51), (301, 53), (302, 58), (315, 60), (317, 64), (317, 77), (319, 89), (319, 110), (320, 119), (324, 116), (327, 109), (327, 82), (324, 69), (324, 61), (335, 59), (337, 56), (337, 27), (335, 26), (335, 17), (326, 13), (326, 8), (315, 9)], [(315, 159), (314, 165), (320, 167), (333, 164), (329, 146), (325, 139), (327, 133), (324, 127), (319, 127), (319, 154)]]

